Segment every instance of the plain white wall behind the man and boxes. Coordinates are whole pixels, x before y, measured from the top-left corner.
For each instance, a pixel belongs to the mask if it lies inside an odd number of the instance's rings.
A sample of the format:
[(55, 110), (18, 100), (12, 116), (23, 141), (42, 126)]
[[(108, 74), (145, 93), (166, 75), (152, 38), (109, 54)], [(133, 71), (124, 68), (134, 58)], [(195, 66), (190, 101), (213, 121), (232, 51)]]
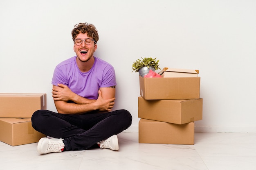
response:
[(55, 66), (74, 56), (71, 31), (99, 31), (95, 56), (117, 75), (115, 109), (127, 109), (137, 131), (138, 73), (132, 62), (157, 57), (160, 67), (200, 70), (203, 120), (197, 132), (256, 133), (256, 1), (2, 0), (0, 92), (47, 93)]

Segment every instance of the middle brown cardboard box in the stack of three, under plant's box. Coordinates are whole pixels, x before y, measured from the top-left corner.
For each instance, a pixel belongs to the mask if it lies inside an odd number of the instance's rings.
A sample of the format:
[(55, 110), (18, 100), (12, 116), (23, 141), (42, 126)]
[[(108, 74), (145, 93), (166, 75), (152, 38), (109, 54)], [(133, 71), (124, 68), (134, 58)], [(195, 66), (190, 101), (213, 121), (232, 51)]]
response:
[(203, 99), (145, 100), (138, 98), (138, 117), (175, 124), (202, 120)]

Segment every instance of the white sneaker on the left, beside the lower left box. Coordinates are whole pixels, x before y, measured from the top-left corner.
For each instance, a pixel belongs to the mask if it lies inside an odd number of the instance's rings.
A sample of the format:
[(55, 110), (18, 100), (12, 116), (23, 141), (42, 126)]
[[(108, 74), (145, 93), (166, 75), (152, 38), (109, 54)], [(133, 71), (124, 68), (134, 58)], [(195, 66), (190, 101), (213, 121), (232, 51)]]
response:
[(40, 154), (51, 152), (62, 152), (64, 150), (63, 139), (43, 137), (39, 140), (37, 145), (37, 152)]

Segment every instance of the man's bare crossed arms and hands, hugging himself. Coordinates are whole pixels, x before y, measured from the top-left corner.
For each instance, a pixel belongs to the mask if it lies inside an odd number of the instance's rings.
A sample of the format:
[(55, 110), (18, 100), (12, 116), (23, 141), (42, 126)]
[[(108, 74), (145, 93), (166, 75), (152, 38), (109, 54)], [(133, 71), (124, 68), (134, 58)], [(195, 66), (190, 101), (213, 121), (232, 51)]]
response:
[[(115, 88), (101, 87), (97, 100), (87, 99), (75, 94), (66, 85), (58, 84), (52, 87), (52, 97), (58, 113), (83, 114), (90, 111), (111, 111), (115, 102)], [(73, 101), (70, 103), (68, 101)]]

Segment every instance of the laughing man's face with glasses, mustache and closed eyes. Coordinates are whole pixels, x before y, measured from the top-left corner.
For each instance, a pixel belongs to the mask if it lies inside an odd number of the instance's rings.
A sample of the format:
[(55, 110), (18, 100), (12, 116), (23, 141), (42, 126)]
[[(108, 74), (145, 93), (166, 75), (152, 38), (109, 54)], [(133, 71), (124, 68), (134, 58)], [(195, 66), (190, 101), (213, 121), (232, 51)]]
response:
[[(86, 38), (91, 38), (92, 37), (88, 37), (87, 33), (79, 33), (77, 35), (77, 37), (75, 39), (86, 39)], [(92, 57), (93, 57), (93, 53), (96, 51), (97, 49), (97, 44), (94, 43), (94, 41), (92, 41), (92, 44), (87, 45), (85, 44), (85, 41), (82, 41), (81, 45), (76, 45), (74, 44), (74, 52), (76, 53), (78, 59), (82, 62), (87, 62), (89, 61)]]

